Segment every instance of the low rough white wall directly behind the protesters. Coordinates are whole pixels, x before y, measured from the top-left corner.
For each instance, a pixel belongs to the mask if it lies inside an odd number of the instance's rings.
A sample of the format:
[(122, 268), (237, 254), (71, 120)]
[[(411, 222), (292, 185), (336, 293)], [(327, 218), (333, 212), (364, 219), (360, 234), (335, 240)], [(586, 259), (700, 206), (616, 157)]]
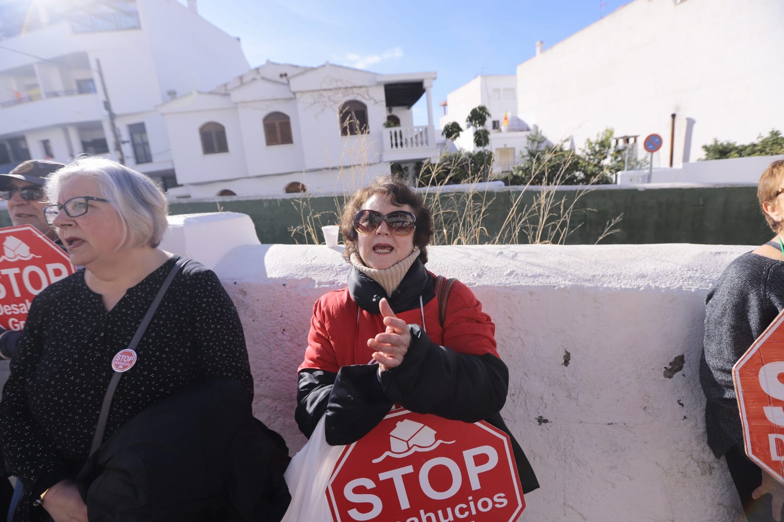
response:
[[(341, 247), (258, 245), (247, 216), (195, 219), (185, 228), (203, 232), (170, 234), (163, 247), (184, 248), (216, 270), (245, 328), (254, 411), (296, 451), (304, 442), (293, 420), (296, 368), (312, 304), (345, 285)], [(169, 247), (177, 237), (184, 242)], [(510, 368), (503, 416), (542, 484), (521, 520), (738, 520), (724, 462), (705, 443), (698, 363), (706, 291), (749, 249), (429, 249), (428, 268), (473, 288), (495, 321)], [(681, 355), (684, 367), (666, 377)]]

